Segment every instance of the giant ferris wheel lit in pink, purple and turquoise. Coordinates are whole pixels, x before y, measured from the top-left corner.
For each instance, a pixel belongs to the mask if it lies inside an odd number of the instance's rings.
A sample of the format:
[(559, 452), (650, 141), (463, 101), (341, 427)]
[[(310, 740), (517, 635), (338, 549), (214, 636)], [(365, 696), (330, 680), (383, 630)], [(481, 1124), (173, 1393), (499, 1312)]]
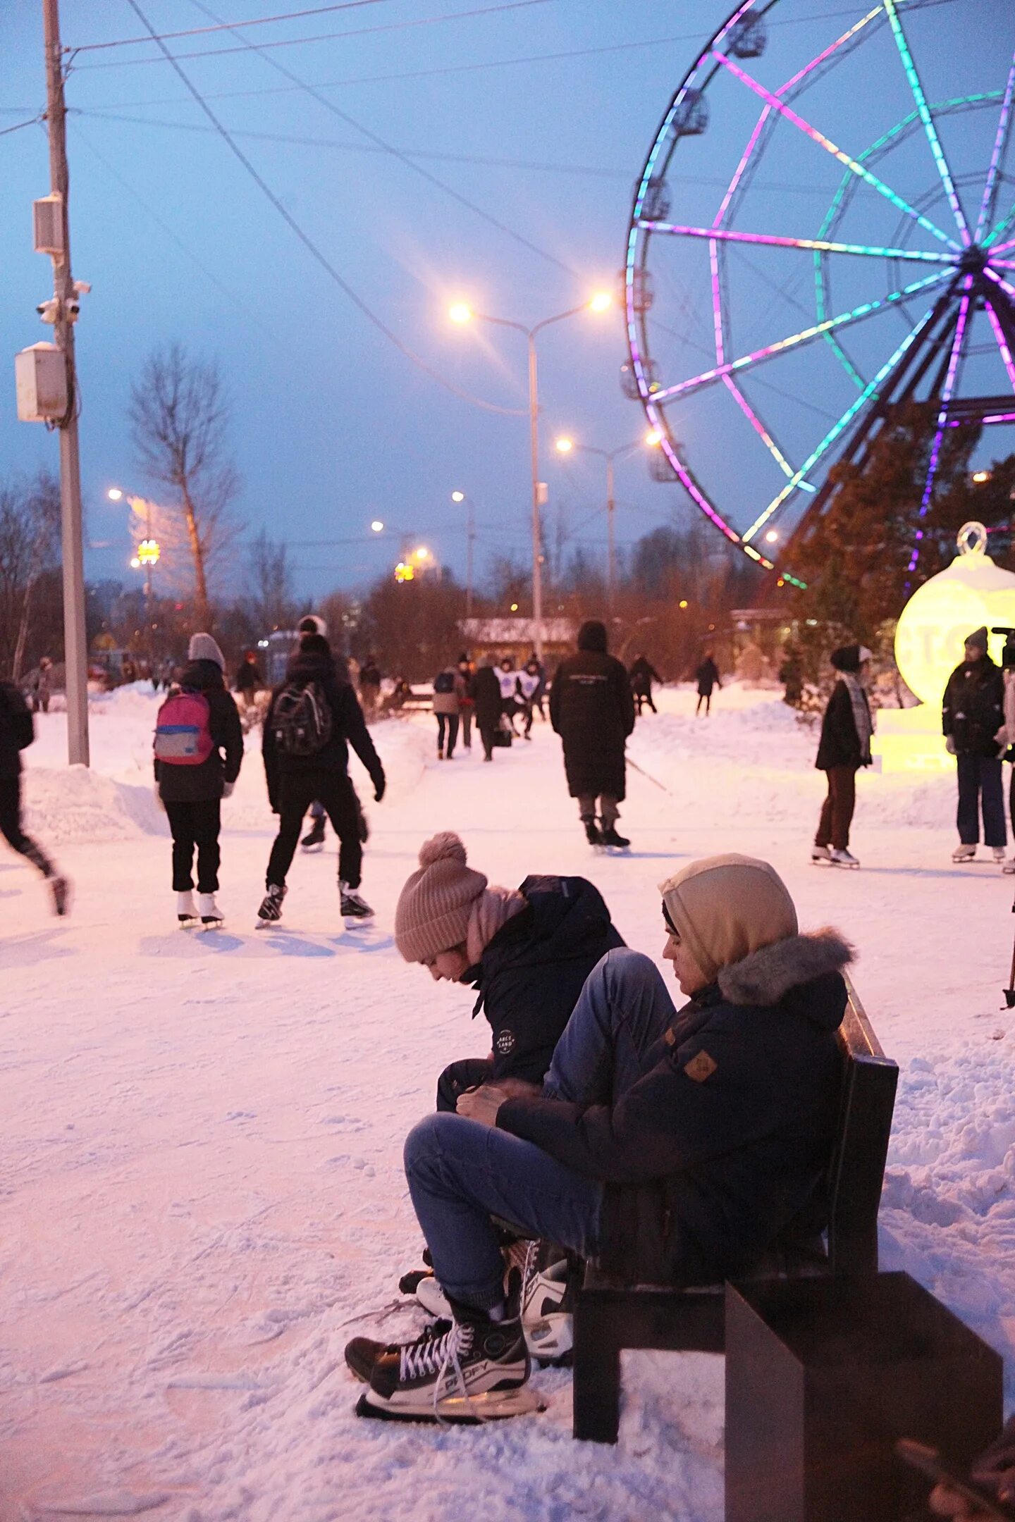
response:
[(1013, 49), (1012, 0), (744, 0), (662, 119), (621, 384), (653, 475), (785, 581), (895, 408), (933, 419), (918, 519), (948, 429), (1015, 425)]

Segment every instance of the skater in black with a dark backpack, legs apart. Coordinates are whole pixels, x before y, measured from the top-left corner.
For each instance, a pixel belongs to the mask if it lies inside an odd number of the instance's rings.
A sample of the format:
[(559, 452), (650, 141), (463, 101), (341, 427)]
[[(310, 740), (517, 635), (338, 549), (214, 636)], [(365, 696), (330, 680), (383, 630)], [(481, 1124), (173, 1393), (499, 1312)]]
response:
[(268, 799), (278, 814), (278, 834), (265, 877), (265, 900), (257, 910), (262, 925), (282, 919), (286, 875), (292, 864), (303, 816), (317, 799), (327, 811), (339, 840), (338, 886), (345, 921), (373, 918), (359, 895), (364, 848), (356, 793), (348, 778), (348, 746), (367, 767), (374, 799), (383, 798), (380, 758), (367, 731), (359, 699), (336, 671), (332, 648), (318, 633), (304, 633), (291, 656), (285, 682), (271, 694), (265, 718), (265, 776)]

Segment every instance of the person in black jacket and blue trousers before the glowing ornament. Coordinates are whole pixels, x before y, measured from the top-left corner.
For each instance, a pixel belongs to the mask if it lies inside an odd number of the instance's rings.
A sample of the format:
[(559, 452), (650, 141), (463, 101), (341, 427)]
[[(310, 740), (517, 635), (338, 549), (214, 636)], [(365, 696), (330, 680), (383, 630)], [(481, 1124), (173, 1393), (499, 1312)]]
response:
[(945, 749), (956, 758), (959, 772), (959, 846), (953, 861), (972, 861), (980, 839), (991, 846), (995, 861), (1004, 860), (1004, 793), (1001, 788), (1001, 746), (997, 734), (1004, 723), (1004, 682), (986, 648), (986, 629), (975, 629), (966, 639), (965, 659), (948, 677), (942, 702)]

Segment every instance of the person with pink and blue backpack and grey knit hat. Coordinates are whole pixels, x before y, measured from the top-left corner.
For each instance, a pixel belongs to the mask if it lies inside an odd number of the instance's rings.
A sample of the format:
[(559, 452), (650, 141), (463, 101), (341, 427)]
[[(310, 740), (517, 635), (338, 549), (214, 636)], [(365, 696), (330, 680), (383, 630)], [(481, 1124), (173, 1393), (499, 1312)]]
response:
[[(177, 921), (215, 930), (222, 912), (219, 829), (222, 799), (233, 791), (243, 763), (243, 731), (225, 689), (225, 656), (212, 635), (192, 635), (180, 689), (158, 709), (155, 787), (172, 834), (172, 886)], [(198, 852), (198, 903), (193, 901), (193, 854)]]

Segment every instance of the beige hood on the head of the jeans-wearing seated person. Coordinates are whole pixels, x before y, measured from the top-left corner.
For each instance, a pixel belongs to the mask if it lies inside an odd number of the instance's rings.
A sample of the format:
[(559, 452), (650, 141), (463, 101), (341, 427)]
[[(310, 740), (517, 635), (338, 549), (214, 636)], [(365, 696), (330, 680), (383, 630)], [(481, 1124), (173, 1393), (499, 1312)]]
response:
[(797, 933), (790, 890), (775, 868), (753, 857), (692, 861), (660, 883), (662, 901), (709, 983), (721, 968)]

